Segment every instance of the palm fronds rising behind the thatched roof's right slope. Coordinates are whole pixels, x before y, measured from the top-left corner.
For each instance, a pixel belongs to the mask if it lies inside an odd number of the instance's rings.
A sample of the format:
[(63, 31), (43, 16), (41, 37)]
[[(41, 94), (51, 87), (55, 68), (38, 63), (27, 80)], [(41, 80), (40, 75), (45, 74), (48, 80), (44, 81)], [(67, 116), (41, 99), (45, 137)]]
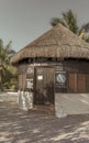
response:
[(53, 18), (51, 20), (51, 25), (55, 26), (58, 23), (62, 23), (64, 26), (68, 28), (80, 38), (84, 38), (86, 42), (89, 42), (89, 23), (84, 24), (80, 29), (77, 23), (77, 14), (74, 14), (71, 10), (62, 13), (63, 18)]

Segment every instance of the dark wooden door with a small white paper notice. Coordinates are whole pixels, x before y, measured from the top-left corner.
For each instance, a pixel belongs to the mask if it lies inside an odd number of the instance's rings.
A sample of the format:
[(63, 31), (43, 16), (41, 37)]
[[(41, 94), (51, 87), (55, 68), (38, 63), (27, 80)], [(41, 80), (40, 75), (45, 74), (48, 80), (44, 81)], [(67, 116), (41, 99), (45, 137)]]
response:
[(34, 105), (54, 105), (54, 68), (36, 67)]

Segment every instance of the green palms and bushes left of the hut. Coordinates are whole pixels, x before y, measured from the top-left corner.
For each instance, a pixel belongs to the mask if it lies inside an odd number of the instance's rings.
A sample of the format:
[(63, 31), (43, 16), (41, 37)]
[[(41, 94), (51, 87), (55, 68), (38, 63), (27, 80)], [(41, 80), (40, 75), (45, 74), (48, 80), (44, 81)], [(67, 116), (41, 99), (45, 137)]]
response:
[(18, 70), (10, 64), (10, 59), (15, 53), (11, 48), (12, 41), (8, 45), (3, 45), (0, 40), (0, 90), (16, 89), (18, 86)]

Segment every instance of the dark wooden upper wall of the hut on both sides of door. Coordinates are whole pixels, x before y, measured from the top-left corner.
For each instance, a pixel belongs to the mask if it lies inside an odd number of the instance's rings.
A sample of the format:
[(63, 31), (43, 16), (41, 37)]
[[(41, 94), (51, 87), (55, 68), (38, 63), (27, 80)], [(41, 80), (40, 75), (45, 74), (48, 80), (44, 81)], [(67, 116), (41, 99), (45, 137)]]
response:
[[(43, 65), (37, 64), (37, 67)], [(46, 66), (52, 66), (55, 69), (55, 92), (89, 92), (89, 62), (68, 59), (47, 63)], [(43, 67), (45, 68), (45, 66)], [(59, 81), (57, 77), (60, 78)], [(19, 89), (26, 90), (29, 79), (34, 84), (35, 89), (34, 65), (20, 64)]]

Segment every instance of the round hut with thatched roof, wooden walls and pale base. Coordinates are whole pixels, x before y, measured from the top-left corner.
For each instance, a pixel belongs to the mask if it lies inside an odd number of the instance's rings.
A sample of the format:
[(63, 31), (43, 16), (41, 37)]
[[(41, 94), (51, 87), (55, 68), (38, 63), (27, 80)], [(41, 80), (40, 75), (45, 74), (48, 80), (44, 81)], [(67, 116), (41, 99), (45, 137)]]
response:
[[(89, 44), (58, 24), (18, 52), (19, 103), (55, 113), (89, 113)], [(49, 110), (51, 108), (48, 108)]]

